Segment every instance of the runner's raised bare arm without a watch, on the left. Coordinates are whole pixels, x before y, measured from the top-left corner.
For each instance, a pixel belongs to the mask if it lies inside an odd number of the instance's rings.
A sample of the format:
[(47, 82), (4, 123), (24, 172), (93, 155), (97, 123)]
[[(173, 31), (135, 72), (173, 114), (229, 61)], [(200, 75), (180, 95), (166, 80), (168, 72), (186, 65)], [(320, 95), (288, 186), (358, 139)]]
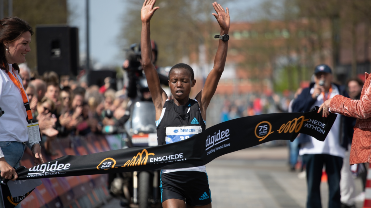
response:
[(152, 100), (156, 108), (156, 120), (160, 118), (162, 106), (164, 105), (167, 95), (162, 90), (160, 79), (158, 78), (157, 70), (152, 64), (152, 47), (151, 47), (151, 31), (150, 21), (157, 9), (153, 7), (156, 0), (145, 0), (141, 10), (142, 33), (141, 33), (141, 51), (142, 51), (142, 66), (145, 77), (147, 78), (148, 88), (150, 89)]

